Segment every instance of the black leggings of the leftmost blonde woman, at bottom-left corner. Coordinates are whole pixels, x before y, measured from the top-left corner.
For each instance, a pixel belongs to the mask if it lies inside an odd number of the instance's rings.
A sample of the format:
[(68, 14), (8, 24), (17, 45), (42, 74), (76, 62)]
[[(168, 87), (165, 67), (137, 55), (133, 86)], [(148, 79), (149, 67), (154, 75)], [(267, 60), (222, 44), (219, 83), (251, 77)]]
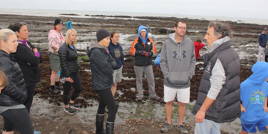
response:
[(32, 121), (26, 108), (9, 109), (0, 115), (4, 118), (3, 131), (10, 132), (16, 127), (21, 134), (33, 134)]

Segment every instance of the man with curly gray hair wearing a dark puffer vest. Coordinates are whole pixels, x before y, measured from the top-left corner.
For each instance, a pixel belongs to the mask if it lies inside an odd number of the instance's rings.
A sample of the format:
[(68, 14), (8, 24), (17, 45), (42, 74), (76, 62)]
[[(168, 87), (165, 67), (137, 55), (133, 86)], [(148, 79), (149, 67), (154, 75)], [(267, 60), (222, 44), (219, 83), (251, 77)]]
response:
[(202, 56), (205, 67), (197, 101), (192, 110), (195, 116), (195, 134), (220, 134), (222, 122), (231, 122), (241, 116), (240, 58), (230, 47), (230, 26), (211, 21), (205, 36), (211, 52)]

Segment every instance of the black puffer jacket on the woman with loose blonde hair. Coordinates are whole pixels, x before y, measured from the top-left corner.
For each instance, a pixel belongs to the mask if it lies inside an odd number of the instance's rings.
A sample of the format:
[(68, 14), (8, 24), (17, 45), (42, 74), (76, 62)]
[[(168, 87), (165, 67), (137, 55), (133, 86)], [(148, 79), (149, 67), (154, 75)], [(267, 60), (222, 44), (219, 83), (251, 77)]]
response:
[(70, 45), (66, 45), (64, 42), (59, 50), (60, 56), (60, 75), (65, 77), (70, 77), (71, 74), (76, 74), (80, 68), (80, 62), (78, 61), (77, 50), (74, 47), (74, 50)]

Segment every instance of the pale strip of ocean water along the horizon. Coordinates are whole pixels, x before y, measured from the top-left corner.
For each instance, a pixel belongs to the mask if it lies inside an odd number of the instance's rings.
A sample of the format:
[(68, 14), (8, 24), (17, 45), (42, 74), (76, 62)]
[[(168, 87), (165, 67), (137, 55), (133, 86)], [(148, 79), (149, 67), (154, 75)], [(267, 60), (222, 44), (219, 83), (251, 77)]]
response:
[[(14, 8), (0, 8), (0, 14), (9, 15), (24, 15), (24, 16), (46, 16), (46, 17), (70, 17), (70, 18), (102, 18), (102, 19), (133, 19), (136, 18), (116, 18), (116, 17), (96, 17), (91, 15), (105, 15), (105, 16), (151, 16), (151, 17), (177, 17), (200, 20), (220, 20), (233, 21), (237, 23), (250, 23), (267, 25), (268, 19), (258, 18), (235, 18), (226, 16), (199, 16), (199, 15), (183, 15), (183, 14), (164, 14), (164, 13), (134, 13), (134, 12), (108, 12), (108, 11), (86, 11), (86, 10), (48, 10), (48, 9), (14, 9)], [(60, 14), (77, 14), (79, 16), (60, 15)], [(89, 15), (89, 16), (85, 16)]]

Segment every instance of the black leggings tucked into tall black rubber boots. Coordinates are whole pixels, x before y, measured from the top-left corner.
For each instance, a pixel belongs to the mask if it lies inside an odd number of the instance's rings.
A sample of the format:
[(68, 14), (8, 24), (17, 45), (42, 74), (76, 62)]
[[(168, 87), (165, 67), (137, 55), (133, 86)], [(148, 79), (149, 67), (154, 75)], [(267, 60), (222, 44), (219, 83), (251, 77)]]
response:
[(105, 106), (108, 107), (109, 114), (107, 117), (107, 122), (114, 122), (117, 107), (113, 98), (113, 94), (110, 88), (105, 90), (96, 90), (99, 94), (99, 108), (97, 114), (103, 115), (105, 113)]

